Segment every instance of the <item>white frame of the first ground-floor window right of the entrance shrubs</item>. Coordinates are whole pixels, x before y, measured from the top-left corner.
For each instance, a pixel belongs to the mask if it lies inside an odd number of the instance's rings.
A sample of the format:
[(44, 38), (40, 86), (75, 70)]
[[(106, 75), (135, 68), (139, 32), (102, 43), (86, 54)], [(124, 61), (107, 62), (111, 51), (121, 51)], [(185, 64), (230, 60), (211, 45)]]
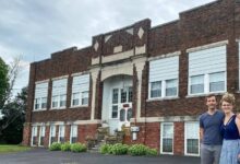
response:
[[(164, 145), (163, 145), (164, 137), (163, 136), (164, 136), (164, 126), (165, 125), (172, 126), (172, 152), (164, 152)], [(173, 122), (161, 122), (160, 124), (160, 153), (172, 155), (173, 152), (175, 152), (175, 124)]]

